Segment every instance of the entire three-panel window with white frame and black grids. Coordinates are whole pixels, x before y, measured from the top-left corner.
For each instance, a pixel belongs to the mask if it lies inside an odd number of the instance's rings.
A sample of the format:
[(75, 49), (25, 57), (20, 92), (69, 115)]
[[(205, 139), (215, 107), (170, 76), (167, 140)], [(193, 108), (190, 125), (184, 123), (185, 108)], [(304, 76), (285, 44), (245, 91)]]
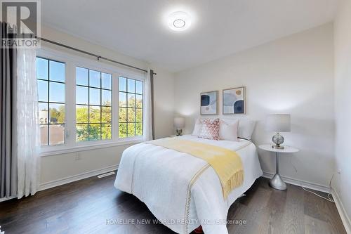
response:
[(142, 141), (144, 74), (51, 48), (36, 63), (41, 155)]

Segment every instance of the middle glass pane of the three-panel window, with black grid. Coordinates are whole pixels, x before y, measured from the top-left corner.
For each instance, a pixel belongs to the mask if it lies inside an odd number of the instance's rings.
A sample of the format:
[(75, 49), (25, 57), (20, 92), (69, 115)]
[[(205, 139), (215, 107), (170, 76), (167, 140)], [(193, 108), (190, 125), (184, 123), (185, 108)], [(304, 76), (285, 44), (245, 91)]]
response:
[(112, 138), (112, 76), (76, 67), (76, 141)]

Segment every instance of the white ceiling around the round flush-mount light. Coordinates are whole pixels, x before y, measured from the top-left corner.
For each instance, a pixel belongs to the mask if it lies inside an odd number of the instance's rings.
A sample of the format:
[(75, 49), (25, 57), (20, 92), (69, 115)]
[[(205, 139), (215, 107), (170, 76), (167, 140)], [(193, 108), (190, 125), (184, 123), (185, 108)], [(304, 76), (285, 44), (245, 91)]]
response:
[[(338, 0), (44, 0), (42, 21), (173, 72), (333, 20)], [(165, 17), (192, 15), (173, 32)]]

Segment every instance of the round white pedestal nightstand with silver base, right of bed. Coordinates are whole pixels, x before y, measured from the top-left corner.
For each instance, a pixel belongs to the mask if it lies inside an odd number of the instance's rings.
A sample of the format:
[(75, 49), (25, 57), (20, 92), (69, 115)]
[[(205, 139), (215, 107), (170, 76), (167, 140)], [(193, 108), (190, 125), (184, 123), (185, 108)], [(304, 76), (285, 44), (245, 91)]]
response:
[(291, 153), (291, 152), (298, 152), (299, 150), (297, 148), (293, 148), (286, 145), (284, 145), (284, 149), (275, 149), (275, 148), (272, 148), (272, 145), (269, 145), (269, 144), (259, 145), (258, 148), (265, 151), (275, 152), (275, 175), (273, 176), (273, 178), (270, 179), (270, 186), (278, 190), (286, 190), (286, 183), (282, 180), (282, 178), (279, 175), (278, 153), (279, 152)]

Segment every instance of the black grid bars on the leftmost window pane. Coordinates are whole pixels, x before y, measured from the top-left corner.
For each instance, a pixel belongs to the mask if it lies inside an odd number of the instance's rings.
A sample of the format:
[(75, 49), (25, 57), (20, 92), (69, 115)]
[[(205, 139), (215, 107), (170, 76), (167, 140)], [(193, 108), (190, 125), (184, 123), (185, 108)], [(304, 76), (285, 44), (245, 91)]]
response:
[[(65, 82), (58, 82), (58, 81), (55, 81), (55, 80), (51, 80), (51, 77), (50, 77), (50, 61), (53, 61), (55, 63), (62, 63), (63, 65), (65, 65), (64, 62), (60, 62), (58, 60), (53, 60), (53, 59), (48, 59), (48, 58), (44, 58), (44, 57), (40, 57), (40, 56), (37, 56), (37, 58), (40, 58), (40, 59), (43, 59), (43, 60), (46, 60), (46, 63), (47, 63), (47, 66), (48, 66), (48, 72), (47, 72), (47, 76), (48, 76), (48, 79), (40, 79), (37, 77), (37, 81), (44, 81), (44, 82), (47, 82), (47, 88), (48, 88), (48, 92), (47, 92), (47, 95), (48, 95), (48, 98), (47, 98), (47, 101), (38, 101), (38, 103), (44, 103), (46, 104), (46, 108), (47, 108), (47, 115), (46, 115), (46, 118), (47, 118), (47, 122), (42, 124), (41, 122), (39, 122), (39, 125), (40, 126), (47, 126), (47, 138), (46, 138), (46, 144), (45, 145), (51, 145), (50, 144), (50, 126), (51, 125), (62, 125), (65, 129), (65, 122), (66, 122), (66, 119), (64, 117), (64, 121), (62, 123), (51, 123), (51, 116), (50, 116), (50, 104), (59, 104), (59, 105), (64, 105), (65, 106), (65, 103), (62, 103), (62, 102), (54, 102), (54, 101), (50, 101), (50, 84), (52, 83), (57, 83), (57, 84), (63, 84), (65, 85)], [(64, 66), (64, 72), (65, 72), (65, 66)], [(64, 73), (65, 74), (65, 73)], [(66, 77), (64, 76), (64, 79), (66, 79)], [(38, 90), (39, 91), (39, 90)], [(65, 93), (64, 93), (64, 96), (65, 96)], [(40, 111), (40, 110), (39, 110)], [(64, 115), (65, 115), (65, 110), (64, 110)], [(40, 120), (39, 120), (40, 121)], [(65, 143), (65, 134), (63, 134), (63, 142), (62, 143), (58, 143), (58, 144), (53, 144), (53, 145), (61, 145), (61, 144), (64, 144)], [(41, 144), (43, 145), (43, 144)]]

